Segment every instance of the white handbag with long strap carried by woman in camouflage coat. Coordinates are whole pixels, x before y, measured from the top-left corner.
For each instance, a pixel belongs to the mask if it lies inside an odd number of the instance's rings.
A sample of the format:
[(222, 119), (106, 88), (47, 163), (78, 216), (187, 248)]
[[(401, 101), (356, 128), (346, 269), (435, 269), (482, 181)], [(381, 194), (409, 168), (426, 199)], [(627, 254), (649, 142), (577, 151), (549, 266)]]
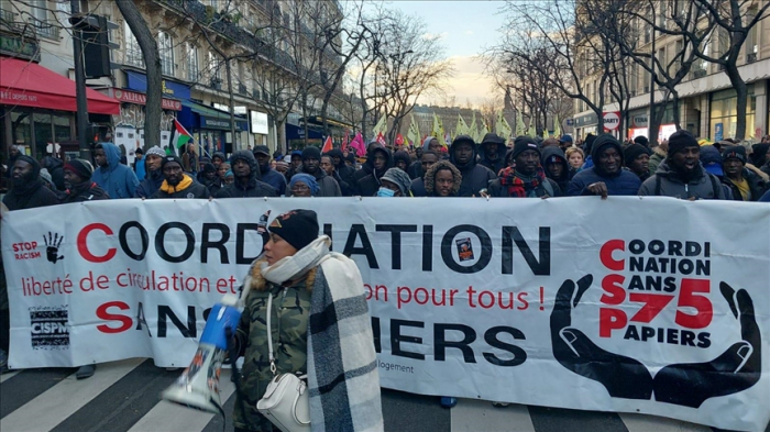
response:
[(270, 369), (273, 379), (267, 385), (265, 396), (256, 402), (256, 409), (283, 432), (310, 431), (310, 397), (307, 383), (295, 374), (276, 374), (275, 357), (273, 356), (273, 332), (271, 315), (273, 314), (273, 296), (267, 297), (267, 348), (270, 352)]

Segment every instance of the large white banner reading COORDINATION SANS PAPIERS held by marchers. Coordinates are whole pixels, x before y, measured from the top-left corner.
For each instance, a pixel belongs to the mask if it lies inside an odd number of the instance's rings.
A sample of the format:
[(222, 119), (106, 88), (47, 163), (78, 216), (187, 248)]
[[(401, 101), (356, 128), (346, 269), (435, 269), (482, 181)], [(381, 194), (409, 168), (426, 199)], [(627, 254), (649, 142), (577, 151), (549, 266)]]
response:
[(11, 367), (186, 366), (208, 308), (262, 250), (260, 218), (296, 208), (316, 210), (361, 268), (384, 387), (735, 430), (770, 419), (761, 203), (118, 200), (10, 212)]

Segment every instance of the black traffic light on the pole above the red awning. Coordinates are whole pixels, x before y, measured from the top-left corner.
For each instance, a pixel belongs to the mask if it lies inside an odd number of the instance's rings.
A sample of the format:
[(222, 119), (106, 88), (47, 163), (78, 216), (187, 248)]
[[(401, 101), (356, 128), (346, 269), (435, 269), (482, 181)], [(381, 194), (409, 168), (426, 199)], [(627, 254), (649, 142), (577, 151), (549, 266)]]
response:
[(101, 15), (80, 15), (69, 19), (75, 30), (80, 31), (82, 38), (82, 57), (85, 59), (86, 78), (109, 77), (111, 75), (110, 48), (119, 45), (110, 43), (109, 31), (118, 25)]

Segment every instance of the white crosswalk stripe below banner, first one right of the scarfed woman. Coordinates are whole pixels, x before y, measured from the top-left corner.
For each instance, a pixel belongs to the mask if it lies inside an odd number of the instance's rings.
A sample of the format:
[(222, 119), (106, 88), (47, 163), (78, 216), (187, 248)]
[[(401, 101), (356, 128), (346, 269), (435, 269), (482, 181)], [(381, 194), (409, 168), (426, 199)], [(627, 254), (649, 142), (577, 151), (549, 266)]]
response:
[(452, 408), (452, 432), (535, 432), (524, 405), (493, 407), (487, 400), (460, 399)]

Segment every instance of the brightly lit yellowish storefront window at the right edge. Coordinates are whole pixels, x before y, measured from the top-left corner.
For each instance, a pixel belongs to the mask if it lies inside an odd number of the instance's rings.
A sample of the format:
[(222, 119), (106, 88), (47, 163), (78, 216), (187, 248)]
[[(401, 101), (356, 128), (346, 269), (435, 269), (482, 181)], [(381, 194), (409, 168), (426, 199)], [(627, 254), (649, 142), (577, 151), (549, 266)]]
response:
[[(748, 89), (746, 101), (746, 133), (750, 136), (754, 132), (755, 111), (757, 98), (754, 88)], [(735, 90), (723, 90), (712, 93), (711, 123), (708, 136), (712, 140), (734, 137), (738, 129), (738, 98)]]

